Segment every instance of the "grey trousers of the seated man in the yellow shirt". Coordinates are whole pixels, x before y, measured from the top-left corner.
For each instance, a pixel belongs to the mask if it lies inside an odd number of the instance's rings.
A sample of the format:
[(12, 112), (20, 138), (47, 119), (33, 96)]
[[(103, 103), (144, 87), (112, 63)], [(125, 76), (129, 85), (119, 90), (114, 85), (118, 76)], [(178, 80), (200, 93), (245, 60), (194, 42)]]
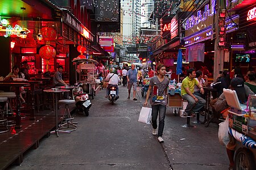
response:
[(185, 109), (185, 113), (189, 114), (192, 112), (199, 112), (201, 108), (203, 108), (205, 106), (205, 103), (206, 101), (200, 97), (200, 96), (197, 96), (196, 94), (193, 94), (197, 99), (198, 99), (198, 103), (196, 103), (195, 99), (193, 99), (192, 96), (188, 95), (188, 94), (185, 94), (182, 96), (182, 98), (184, 100), (187, 100), (188, 101), (188, 105), (187, 105), (187, 108)]

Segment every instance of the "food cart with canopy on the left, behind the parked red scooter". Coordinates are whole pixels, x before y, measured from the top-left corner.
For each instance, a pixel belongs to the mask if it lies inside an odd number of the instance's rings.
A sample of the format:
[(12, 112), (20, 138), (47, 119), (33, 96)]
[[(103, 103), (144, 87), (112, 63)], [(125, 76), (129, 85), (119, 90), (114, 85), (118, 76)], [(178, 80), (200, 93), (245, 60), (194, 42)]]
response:
[(98, 63), (94, 59), (73, 59), (76, 66), (76, 82), (82, 82), (82, 90), (92, 96), (100, 90), (99, 82), (97, 81), (96, 66)]

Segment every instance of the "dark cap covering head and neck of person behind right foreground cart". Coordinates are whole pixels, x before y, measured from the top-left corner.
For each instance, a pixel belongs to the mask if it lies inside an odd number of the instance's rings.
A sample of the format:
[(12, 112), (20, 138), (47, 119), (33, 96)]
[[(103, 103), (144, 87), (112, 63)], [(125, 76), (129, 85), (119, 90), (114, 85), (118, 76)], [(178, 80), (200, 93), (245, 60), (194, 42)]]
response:
[(237, 92), (237, 97), (240, 103), (245, 103), (246, 101), (246, 92), (245, 92), (245, 85), (242, 78), (236, 77), (233, 78), (230, 82), (230, 86), (234, 88)]

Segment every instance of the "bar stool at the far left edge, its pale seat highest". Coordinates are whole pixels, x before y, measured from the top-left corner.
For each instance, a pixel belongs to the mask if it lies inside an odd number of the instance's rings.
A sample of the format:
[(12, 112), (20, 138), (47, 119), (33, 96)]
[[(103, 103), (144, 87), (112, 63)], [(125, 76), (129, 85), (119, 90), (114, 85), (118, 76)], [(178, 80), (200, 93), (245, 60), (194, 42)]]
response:
[[(14, 111), (11, 107), (10, 101), (16, 99), (15, 92), (0, 92), (0, 97), (7, 97), (7, 102), (3, 108), (3, 113), (6, 115), (7, 119), (8, 117), (14, 117)], [(8, 126), (15, 126), (15, 121), (9, 120)]]

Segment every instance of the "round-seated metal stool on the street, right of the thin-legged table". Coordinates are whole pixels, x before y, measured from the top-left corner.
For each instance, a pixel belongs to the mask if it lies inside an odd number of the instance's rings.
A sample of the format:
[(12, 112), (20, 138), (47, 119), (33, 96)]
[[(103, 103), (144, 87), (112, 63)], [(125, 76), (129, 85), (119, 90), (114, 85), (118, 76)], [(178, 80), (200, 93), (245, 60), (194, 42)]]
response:
[[(61, 117), (59, 129), (67, 129), (66, 131), (76, 130), (76, 125), (75, 125), (76, 123), (72, 121), (74, 117), (71, 117), (71, 114), (68, 109), (69, 104), (75, 104), (75, 103), (76, 103), (75, 100), (68, 100), (68, 99), (59, 100), (59, 104), (65, 104), (65, 111), (63, 113), (63, 116)], [(67, 122), (64, 123), (64, 121), (67, 121)]]

